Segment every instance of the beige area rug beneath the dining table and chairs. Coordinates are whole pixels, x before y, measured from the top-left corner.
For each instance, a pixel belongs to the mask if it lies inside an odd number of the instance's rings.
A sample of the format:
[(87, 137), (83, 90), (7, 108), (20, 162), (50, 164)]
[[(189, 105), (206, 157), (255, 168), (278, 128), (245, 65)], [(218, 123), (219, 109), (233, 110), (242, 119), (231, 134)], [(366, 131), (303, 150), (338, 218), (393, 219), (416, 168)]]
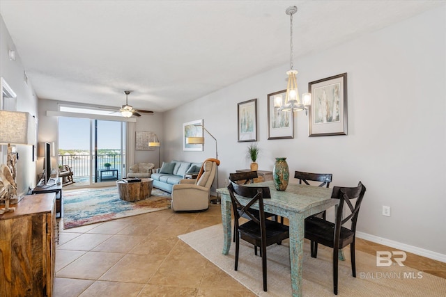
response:
[[(178, 236), (201, 255), (231, 275), (258, 296), (291, 296), (289, 240), (282, 246), (269, 246), (268, 291), (263, 291), (261, 257), (240, 241), (238, 271), (234, 271), (235, 244), (222, 255), (223, 227), (214, 225)], [(309, 242), (304, 246), (303, 295), (335, 296), (332, 287), (332, 249), (319, 245), (318, 257), (310, 257)], [(410, 267), (376, 267), (376, 257), (356, 251), (356, 278), (351, 276), (350, 250), (339, 262), (338, 296), (446, 296), (446, 280)]]

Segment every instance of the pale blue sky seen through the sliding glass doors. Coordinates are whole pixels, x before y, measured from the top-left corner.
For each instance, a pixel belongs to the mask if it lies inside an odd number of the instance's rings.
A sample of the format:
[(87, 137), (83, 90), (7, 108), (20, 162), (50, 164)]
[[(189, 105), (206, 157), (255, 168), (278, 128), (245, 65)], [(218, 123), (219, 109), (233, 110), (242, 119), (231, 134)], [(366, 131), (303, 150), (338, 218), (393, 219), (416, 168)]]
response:
[[(59, 149), (89, 150), (90, 121), (59, 117)], [(93, 121), (94, 124), (94, 121)], [(121, 149), (121, 122), (98, 120), (98, 149)]]

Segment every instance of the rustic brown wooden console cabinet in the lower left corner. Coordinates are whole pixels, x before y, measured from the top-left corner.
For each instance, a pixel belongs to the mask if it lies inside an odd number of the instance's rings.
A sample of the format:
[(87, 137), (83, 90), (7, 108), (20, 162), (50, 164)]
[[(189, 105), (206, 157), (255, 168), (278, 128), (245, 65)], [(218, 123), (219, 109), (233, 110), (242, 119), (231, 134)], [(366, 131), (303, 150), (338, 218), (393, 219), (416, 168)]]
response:
[(55, 194), (26, 195), (0, 215), (0, 296), (53, 295)]

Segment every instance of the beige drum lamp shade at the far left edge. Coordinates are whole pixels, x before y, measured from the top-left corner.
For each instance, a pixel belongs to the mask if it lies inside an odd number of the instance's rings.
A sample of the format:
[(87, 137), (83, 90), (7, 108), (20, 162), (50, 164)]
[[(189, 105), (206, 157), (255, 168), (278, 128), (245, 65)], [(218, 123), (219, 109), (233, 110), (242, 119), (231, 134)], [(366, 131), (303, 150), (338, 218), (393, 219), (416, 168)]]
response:
[(0, 143), (33, 145), (36, 143), (36, 120), (31, 113), (0, 111)]

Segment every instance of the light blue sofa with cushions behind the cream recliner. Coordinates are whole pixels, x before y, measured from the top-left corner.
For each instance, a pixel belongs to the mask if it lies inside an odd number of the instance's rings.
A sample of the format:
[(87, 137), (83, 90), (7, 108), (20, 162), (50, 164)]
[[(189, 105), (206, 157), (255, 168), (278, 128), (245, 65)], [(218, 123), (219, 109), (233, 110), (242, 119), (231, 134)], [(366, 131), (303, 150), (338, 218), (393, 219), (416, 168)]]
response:
[(162, 162), (161, 168), (152, 173), (153, 186), (162, 191), (172, 193), (174, 184), (179, 184), (187, 174), (198, 174), (202, 163), (173, 160)]

